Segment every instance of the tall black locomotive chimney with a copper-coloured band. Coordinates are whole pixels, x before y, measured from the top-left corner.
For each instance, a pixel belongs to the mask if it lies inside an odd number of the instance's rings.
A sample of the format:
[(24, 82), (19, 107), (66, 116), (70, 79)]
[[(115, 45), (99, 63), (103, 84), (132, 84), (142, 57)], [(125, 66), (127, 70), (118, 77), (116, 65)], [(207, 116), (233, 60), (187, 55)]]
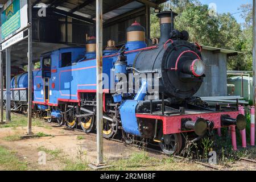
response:
[(172, 10), (163, 11), (157, 14), (160, 18), (160, 40), (159, 44), (164, 44), (170, 37), (170, 33), (174, 30), (174, 18), (177, 16)]

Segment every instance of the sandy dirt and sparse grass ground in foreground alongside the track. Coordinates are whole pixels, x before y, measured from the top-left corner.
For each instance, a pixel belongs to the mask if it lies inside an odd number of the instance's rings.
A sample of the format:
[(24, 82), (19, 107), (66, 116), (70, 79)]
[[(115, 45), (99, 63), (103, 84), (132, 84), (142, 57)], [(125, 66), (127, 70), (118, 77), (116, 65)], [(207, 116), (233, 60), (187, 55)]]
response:
[[(15, 121), (13, 121), (15, 122)], [(73, 131), (67, 127), (59, 127), (51, 123), (43, 122), (42, 126), (34, 126), (32, 128), (34, 134), (43, 133), (51, 135), (49, 137), (36, 137), (28, 139), (12, 139), (6, 138), (15, 135), (22, 136), (26, 134), (26, 127), (0, 127), (0, 146), (10, 151), (15, 151), (15, 155), (22, 162), (26, 162), (27, 170), (63, 170), (63, 169), (89, 169), (89, 163), (96, 162), (96, 134), (85, 134), (80, 131)], [(46, 164), (39, 164), (40, 151), (46, 152)], [(131, 169), (138, 170), (210, 170), (200, 164), (188, 162), (168, 162), (169, 158), (166, 155), (148, 154), (148, 157), (140, 154), (141, 150), (138, 148), (126, 146), (123, 143), (115, 142), (113, 140), (104, 139), (104, 159), (107, 163), (117, 165), (109, 168), (110, 170), (129, 169), (129, 162), (126, 159), (133, 160), (134, 163), (144, 160), (164, 159), (163, 163), (159, 165), (146, 166), (131, 166)], [(135, 156), (135, 157), (134, 157)], [(136, 161), (138, 160), (138, 162)], [(85, 162), (86, 167), (74, 168), (77, 162)], [(113, 163), (114, 162), (114, 163)], [(124, 164), (125, 163), (125, 164)], [(154, 161), (153, 161), (154, 163)], [(81, 165), (81, 164), (80, 164)], [(1, 166), (0, 170), (5, 167)], [(237, 168), (236, 168), (237, 169)], [(235, 169), (235, 170), (236, 170)], [(255, 166), (241, 168), (255, 170)]]

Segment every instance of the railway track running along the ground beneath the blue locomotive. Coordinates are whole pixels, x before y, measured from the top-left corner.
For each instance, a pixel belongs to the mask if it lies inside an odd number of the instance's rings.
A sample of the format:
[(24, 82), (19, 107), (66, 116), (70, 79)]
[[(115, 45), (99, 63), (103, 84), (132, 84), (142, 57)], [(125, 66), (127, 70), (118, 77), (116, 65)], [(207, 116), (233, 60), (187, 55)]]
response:
[[(22, 115), (24, 116), (24, 114), (20, 114), (20, 113), (13, 113), (15, 115)], [(36, 118), (38, 119), (39, 121), (42, 121), (42, 122), (47, 122), (46, 119), (42, 119), (42, 118)], [(50, 125), (55, 125), (55, 126), (59, 126), (58, 123), (55, 123), (55, 122), (47, 122), (49, 123)], [(68, 128), (69, 130), (73, 130), (73, 131), (79, 131), (83, 134), (86, 134), (84, 131), (80, 130), (80, 129), (71, 129), (69, 128), (68, 126), (66, 125), (61, 125), (60, 127), (65, 127), (65, 128)], [(86, 134), (86, 135), (90, 135), (90, 136), (93, 136), (93, 137), (96, 137), (96, 134), (95, 133), (89, 133), (89, 134)], [(122, 140), (119, 140), (119, 139), (109, 139), (109, 140), (113, 140), (114, 142), (118, 142), (118, 143), (121, 143), (123, 144), (124, 146), (130, 146), (130, 147), (135, 147), (135, 148), (139, 148), (140, 150), (145, 150), (147, 152), (150, 152), (151, 154), (156, 154), (156, 155), (166, 155), (168, 156), (167, 154), (165, 154), (163, 151), (161, 150), (156, 150), (152, 147), (144, 147), (141, 145), (141, 144), (126, 144), (125, 142), (123, 142)], [(174, 158), (176, 160), (179, 160), (180, 162), (191, 162), (191, 163), (196, 163), (196, 164), (200, 164), (201, 166), (204, 166), (204, 167), (207, 167), (209, 169), (214, 169), (214, 170), (217, 170), (217, 171), (224, 171), (225, 168), (222, 167), (222, 166), (219, 166), (219, 165), (213, 165), (213, 164), (208, 164), (208, 163), (204, 163), (204, 162), (199, 162), (197, 160), (191, 160), (191, 159), (188, 159), (188, 158), (184, 158), (183, 156), (177, 156), (177, 155), (174, 155)], [(241, 162), (245, 162), (245, 163), (250, 163), (250, 164), (256, 164), (256, 160), (253, 160), (253, 159), (247, 159), (247, 158), (240, 158), (238, 159), (238, 161), (241, 161)]]

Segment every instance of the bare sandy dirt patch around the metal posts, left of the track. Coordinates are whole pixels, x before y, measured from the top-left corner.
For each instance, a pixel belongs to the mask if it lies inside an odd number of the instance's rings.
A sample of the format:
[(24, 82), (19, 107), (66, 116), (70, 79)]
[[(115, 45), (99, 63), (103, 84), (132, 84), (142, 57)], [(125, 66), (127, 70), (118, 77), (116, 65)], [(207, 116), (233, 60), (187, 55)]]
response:
[[(11, 128), (0, 129), (0, 145), (14, 150), (21, 159), (26, 159), (30, 169), (39, 170), (60, 170), (63, 168), (59, 159), (48, 159), (47, 165), (39, 165), (38, 158), (40, 148), (47, 148), (48, 150), (59, 150), (61, 155), (67, 156), (68, 159), (76, 159), (82, 155), (86, 157), (90, 163), (96, 162), (96, 135), (88, 135), (80, 131), (69, 130), (66, 127), (57, 127), (48, 123), (44, 123), (45, 127), (34, 127), (33, 133), (45, 133), (52, 135), (51, 137), (29, 138), (16, 141), (7, 141), (4, 138), (12, 135), (25, 135), (26, 128)], [(77, 139), (77, 137), (83, 139)], [(113, 142), (111, 140), (104, 140), (104, 152), (106, 159), (127, 158), (135, 148), (125, 147), (123, 144)], [(82, 151), (82, 154), (81, 154)], [(48, 156), (51, 158), (50, 156)]]

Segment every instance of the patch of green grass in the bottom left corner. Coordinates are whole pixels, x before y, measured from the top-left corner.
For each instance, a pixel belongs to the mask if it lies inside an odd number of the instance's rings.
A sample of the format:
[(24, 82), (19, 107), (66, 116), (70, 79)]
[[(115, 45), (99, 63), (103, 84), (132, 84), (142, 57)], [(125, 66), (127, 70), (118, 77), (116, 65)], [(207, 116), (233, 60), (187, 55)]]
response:
[(9, 151), (0, 146), (0, 170), (26, 171), (27, 163), (19, 160), (16, 152)]

